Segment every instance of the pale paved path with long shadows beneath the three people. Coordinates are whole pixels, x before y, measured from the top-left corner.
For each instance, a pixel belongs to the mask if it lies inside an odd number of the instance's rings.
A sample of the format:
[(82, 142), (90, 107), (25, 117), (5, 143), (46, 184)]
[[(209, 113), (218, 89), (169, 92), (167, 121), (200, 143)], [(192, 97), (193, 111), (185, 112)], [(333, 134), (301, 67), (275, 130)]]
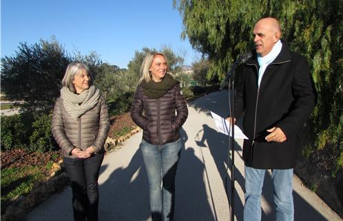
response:
[[(227, 115), (227, 92), (216, 92), (189, 104), (189, 118), (181, 130), (183, 151), (176, 177), (175, 220), (230, 220), (231, 193), (228, 137), (218, 133), (209, 111)], [(138, 149), (142, 132), (123, 143), (120, 150), (107, 154), (101, 166), (99, 220), (151, 220), (149, 193), (143, 157)], [(242, 220), (244, 166), (242, 140), (236, 141), (236, 219)], [(229, 162), (231, 164), (231, 162)], [(270, 175), (266, 174), (262, 198), (262, 220), (275, 220)], [(295, 220), (342, 220), (293, 177)], [(52, 195), (27, 216), (27, 220), (72, 220), (71, 190)], [(230, 199), (230, 198), (229, 198)]]

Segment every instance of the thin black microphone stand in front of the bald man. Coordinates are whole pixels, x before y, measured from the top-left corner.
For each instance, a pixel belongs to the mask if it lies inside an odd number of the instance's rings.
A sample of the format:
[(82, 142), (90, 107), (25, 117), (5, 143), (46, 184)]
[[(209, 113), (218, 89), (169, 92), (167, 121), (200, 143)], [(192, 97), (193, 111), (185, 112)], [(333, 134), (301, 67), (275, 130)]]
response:
[[(236, 67), (239, 64), (239, 62), (233, 63), (231, 66), (231, 69), (227, 73), (226, 79), (229, 79), (229, 81), (226, 81), (226, 84), (228, 86), (228, 98), (229, 98), (229, 112), (231, 117), (231, 139), (229, 137), (229, 146), (231, 146), (231, 221), (234, 221), (235, 219), (235, 129), (234, 129), (234, 122), (233, 122), (233, 94), (234, 94), (234, 85), (235, 85), (235, 71)], [(230, 101), (231, 96), (231, 101)], [(229, 165), (229, 155), (227, 157), (227, 165)], [(227, 180), (225, 180), (225, 191), (227, 193)], [(229, 198), (229, 196), (227, 195)]]

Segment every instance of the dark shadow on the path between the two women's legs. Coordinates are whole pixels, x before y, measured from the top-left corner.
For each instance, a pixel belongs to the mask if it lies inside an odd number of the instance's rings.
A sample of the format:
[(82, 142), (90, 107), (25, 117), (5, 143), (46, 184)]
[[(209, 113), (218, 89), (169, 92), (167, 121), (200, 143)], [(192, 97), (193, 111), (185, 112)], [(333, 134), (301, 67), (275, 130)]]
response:
[(100, 186), (99, 220), (147, 220), (149, 184), (138, 148), (126, 168), (113, 171)]

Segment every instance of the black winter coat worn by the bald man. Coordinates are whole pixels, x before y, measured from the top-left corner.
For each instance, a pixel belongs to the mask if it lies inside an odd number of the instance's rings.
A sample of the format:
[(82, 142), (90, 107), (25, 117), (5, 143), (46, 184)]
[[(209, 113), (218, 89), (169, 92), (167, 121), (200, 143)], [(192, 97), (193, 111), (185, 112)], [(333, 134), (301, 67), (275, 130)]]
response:
[[(245, 111), (243, 128), (249, 140), (243, 144), (245, 165), (256, 169), (291, 169), (298, 152), (297, 133), (315, 106), (315, 87), (306, 59), (282, 42), (278, 57), (267, 66), (258, 88), (256, 52), (242, 72), (234, 114)], [(280, 127), (283, 143), (267, 142), (267, 129)]]

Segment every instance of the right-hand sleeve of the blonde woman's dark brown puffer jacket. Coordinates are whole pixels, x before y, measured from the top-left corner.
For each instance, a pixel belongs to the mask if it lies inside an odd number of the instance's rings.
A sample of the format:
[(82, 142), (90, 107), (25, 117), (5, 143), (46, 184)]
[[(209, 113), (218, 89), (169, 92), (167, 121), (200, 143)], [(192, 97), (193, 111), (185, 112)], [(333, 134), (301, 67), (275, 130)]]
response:
[(178, 131), (183, 124), (185, 124), (188, 117), (188, 108), (185, 97), (181, 94), (180, 85), (176, 84), (176, 97), (175, 97), (175, 108), (176, 108), (176, 118), (174, 121), (174, 128)]

